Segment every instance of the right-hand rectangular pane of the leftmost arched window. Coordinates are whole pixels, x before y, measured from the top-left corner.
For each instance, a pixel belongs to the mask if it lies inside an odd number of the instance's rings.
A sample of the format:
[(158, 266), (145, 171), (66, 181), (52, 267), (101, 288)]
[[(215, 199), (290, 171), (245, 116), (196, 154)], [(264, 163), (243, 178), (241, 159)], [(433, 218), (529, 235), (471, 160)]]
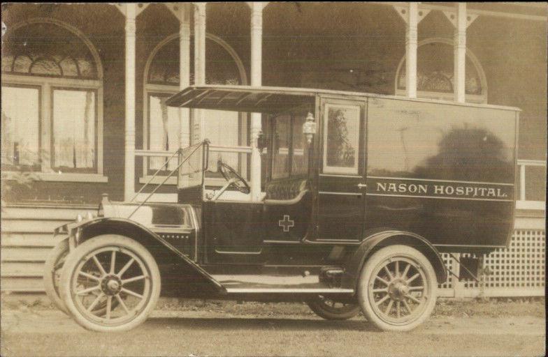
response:
[(95, 93), (54, 90), (52, 121), (54, 167), (69, 172), (92, 169), (96, 152)]

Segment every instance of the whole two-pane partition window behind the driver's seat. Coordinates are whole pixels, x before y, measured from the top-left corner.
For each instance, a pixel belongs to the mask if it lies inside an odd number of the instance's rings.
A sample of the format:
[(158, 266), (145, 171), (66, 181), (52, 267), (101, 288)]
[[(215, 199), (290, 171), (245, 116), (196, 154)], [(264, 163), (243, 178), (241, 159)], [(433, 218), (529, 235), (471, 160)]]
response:
[(271, 179), (308, 173), (308, 150), (303, 135), (305, 118), (305, 112), (273, 117)]

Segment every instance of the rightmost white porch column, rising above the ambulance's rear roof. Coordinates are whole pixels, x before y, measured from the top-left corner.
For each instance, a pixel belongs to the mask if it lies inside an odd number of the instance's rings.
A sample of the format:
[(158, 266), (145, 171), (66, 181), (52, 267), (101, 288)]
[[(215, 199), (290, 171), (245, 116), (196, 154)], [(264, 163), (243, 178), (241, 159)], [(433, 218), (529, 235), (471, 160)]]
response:
[(454, 33), (454, 93), (456, 102), (464, 102), (466, 96), (466, 3), (457, 4)]

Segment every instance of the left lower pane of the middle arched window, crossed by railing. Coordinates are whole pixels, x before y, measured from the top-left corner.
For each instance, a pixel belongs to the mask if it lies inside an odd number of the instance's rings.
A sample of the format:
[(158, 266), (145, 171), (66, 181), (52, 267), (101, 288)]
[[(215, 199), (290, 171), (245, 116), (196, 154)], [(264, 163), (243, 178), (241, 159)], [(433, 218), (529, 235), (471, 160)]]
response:
[[(149, 96), (149, 144), (150, 150), (169, 151), (173, 153), (179, 149), (180, 114), (179, 108), (165, 105), (169, 95)], [(188, 122), (183, 123), (188, 127)], [(149, 169), (157, 170), (168, 158), (149, 158)], [(169, 162), (169, 170), (175, 169), (178, 163), (176, 158)]]

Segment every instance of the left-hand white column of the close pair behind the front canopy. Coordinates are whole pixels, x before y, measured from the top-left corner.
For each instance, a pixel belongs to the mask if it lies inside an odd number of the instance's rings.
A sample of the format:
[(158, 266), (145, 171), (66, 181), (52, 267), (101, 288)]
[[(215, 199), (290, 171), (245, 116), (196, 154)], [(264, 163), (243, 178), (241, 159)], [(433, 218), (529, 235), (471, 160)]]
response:
[[(190, 85), (190, 8), (188, 4), (179, 5), (179, 89)], [(185, 148), (190, 144), (190, 111), (188, 108), (179, 109), (180, 130), (179, 147)]]

